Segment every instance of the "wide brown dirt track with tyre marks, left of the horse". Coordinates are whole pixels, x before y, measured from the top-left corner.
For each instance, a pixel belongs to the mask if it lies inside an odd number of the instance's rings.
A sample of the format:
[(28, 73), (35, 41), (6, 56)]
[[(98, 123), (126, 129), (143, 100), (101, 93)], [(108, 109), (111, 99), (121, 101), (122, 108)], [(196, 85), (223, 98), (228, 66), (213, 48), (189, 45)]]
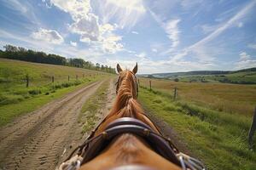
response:
[(80, 109), (101, 84), (80, 88), (3, 127), (0, 169), (55, 169), (64, 148), (81, 139), (74, 133)]

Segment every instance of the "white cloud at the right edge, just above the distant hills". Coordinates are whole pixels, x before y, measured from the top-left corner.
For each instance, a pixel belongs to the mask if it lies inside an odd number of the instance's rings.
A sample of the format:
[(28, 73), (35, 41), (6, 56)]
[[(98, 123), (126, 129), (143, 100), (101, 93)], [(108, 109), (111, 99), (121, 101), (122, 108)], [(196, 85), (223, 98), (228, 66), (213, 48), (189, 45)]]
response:
[(239, 54), (240, 59), (235, 63), (236, 69), (246, 69), (251, 67), (256, 67), (256, 59), (252, 59), (252, 57), (246, 52), (241, 52)]

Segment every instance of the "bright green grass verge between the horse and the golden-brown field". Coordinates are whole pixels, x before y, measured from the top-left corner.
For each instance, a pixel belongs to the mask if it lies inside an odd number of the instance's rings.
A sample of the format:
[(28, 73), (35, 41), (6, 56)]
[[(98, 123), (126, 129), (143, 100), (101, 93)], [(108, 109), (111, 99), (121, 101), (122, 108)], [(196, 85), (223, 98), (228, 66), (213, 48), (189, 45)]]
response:
[(140, 88), (139, 100), (172, 126), (208, 169), (255, 169), (256, 153), (247, 146), (247, 116), (174, 102), (171, 95), (148, 88)]

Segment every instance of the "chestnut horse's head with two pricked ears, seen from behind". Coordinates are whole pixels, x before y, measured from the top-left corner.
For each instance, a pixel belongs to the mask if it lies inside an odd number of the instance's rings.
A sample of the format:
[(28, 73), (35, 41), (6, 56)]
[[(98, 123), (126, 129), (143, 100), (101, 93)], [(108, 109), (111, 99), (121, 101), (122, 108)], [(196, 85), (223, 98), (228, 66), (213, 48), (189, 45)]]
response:
[(130, 83), (126, 85), (126, 88), (131, 88), (132, 97), (134, 99), (137, 99), (138, 86), (137, 86), (137, 77), (135, 76), (137, 73), (137, 63), (135, 67), (132, 69), (132, 71), (123, 70), (119, 64), (117, 64), (116, 68), (119, 73), (119, 79), (118, 79), (118, 82), (116, 82), (116, 94), (118, 94), (119, 92), (122, 92), (122, 89), (119, 89), (122, 83), (124, 83), (124, 81), (129, 81)]

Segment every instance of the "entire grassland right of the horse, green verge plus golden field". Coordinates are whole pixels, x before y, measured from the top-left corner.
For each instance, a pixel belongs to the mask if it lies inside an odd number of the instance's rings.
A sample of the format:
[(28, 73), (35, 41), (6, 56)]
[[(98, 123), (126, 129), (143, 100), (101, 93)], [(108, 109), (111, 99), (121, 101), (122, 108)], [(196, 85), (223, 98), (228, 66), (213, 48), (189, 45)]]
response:
[[(140, 88), (139, 100), (173, 127), (208, 169), (255, 169), (256, 153), (247, 144), (255, 86), (151, 81), (153, 89)], [(148, 87), (148, 79), (140, 83)]]

